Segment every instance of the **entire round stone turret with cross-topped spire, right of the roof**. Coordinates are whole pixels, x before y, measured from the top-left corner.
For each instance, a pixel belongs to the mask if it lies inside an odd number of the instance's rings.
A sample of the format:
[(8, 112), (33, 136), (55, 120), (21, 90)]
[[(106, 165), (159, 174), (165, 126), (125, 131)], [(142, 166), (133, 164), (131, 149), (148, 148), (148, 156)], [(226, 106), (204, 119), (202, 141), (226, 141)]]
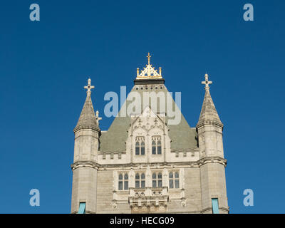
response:
[(222, 142), (223, 124), (214, 107), (209, 93), (209, 76), (206, 74), (205, 95), (202, 110), (197, 123), (202, 189), (202, 213), (228, 213), (227, 190), (224, 167), (224, 149)]

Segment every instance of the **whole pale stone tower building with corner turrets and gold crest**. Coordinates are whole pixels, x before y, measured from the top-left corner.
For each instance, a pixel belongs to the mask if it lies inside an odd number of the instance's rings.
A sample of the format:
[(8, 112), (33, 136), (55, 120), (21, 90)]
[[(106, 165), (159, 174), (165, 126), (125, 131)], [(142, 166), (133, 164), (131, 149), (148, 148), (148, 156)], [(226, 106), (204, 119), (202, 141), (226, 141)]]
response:
[[(148, 56), (150, 59), (150, 56)], [(90, 97), (75, 132), (71, 213), (228, 213), (224, 167), (223, 125), (209, 94), (199, 122), (190, 128), (182, 113), (169, 125), (157, 104), (141, 105), (139, 113), (121, 115), (128, 95), (108, 131), (101, 131)], [(169, 93), (160, 73), (147, 65), (132, 92)], [(166, 103), (166, 100), (165, 100)], [(176, 107), (174, 100), (172, 107)], [(177, 115), (177, 113), (176, 113)], [(80, 206), (81, 205), (81, 206)]]

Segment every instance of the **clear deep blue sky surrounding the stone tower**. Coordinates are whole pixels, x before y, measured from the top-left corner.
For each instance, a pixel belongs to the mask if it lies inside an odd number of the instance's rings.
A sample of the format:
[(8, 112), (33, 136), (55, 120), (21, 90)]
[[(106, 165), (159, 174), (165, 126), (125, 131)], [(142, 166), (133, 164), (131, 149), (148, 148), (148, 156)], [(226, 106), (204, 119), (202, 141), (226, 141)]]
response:
[[(41, 21), (29, 20), (29, 6)], [(243, 6), (254, 5), (254, 21)], [(284, 212), (284, 1), (1, 1), (0, 213), (69, 213), (73, 128), (88, 76), (103, 113), (136, 68), (162, 67), (195, 127), (209, 73), (231, 213)], [(100, 122), (107, 130), (113, 118)], [(41, 206), (29, 205), (40, 190)], [(244, 189), (254, 207), (244, 207)]]

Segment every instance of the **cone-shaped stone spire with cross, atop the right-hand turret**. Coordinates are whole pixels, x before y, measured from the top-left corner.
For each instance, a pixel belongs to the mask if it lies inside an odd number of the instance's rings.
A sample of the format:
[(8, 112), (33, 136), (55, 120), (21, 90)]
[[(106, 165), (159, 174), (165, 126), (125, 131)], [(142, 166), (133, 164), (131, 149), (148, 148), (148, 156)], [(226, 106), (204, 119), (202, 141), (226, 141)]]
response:
[(216, 124), (222, 128), (223, 124), (221, 120), (219, 120), (219, 115), (217, 113), (216, 108), (214, 107), (214, 102), (212, 100), (211, 94), (209, 93), (209, 84), (212, 84), (212, 81), (208, 80), (209, 76), (207, 75), (207, 73), (204, 77), (205, 81), (202, 81), (202, 84), (205, 85), (205, 95), (201, 113), (199, 116), (199, 121), (197, 123), (197, 128), (204, 124)]

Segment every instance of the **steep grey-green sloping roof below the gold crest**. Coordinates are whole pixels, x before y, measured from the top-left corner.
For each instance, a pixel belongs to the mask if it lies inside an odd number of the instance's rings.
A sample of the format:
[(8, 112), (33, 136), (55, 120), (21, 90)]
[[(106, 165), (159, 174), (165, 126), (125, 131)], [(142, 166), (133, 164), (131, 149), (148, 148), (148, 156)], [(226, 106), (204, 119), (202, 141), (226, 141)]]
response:
[[(136, 90), (136, 87), (134, 86), (132, 91), (136, 91), (140, 93), (140, 97), (142, 98), (143, 92), (155, 92), (155, 93), (164, 93), (165, 98), (166, 94), (169, 93), (167, 88), (162, 85), (162, 88), (160, 88), (160, 85), (152, 86), (152, 90), (150, 90), (150, 85), (148, 85), (148, 90), (144, 89), (138, 89)], [(142, 86), (139, 86), (142, 87)], [(157, 87), (157, 88), (155, 88)], [(129, 94), (130, 95), (130, 94)], [(128, 96), (129, 96), (128, 95)], [(132, 101), (127, 100), (125, 101), (124, 105), (128, 105), (132, 103)], [(124, 108), (124, 105), (122, 108)], [(150, 108), (151, 103), (149, 104)], [(159, 105), (158, 105), (159, 106)], [(177, 108), (177, 105), (175, 104), (175, 101), (172, 99), (172, 107)], [(145, 107), (141, 108), (141, 112), (144, 110)], [(157, 107), (157, 110), (159, 110), (159, 107)], [(174, 110), (174, 108), (172, 109)], [(180, 112), (179, 108), (177, 110)], [(100, 136), (100, 151), (102, 152), (125, 152), (125, 141), (128, 138), (128, 130), (130, 128), (130, 117), (120, 117), (122, 109), (118, 113), (117, 117), (113, 121), (112, 125), (110, 125), (110, 128), (108, 131), (105, 131)], [(166, 123), (167, 123), (168, 117), (166, 116)], [(169, 130), (169, 136), (172, 140), (171, 142), (171, 149), (177, 150), (177, 149), (192, 149), (197, 147), (197, 133), (195, 128), (190, 128), (190, 125), (188, 125), (187, 121), (185, 120), (184, 116), (181, 113), (181, 121), (177, 125), (167, 125)]]

